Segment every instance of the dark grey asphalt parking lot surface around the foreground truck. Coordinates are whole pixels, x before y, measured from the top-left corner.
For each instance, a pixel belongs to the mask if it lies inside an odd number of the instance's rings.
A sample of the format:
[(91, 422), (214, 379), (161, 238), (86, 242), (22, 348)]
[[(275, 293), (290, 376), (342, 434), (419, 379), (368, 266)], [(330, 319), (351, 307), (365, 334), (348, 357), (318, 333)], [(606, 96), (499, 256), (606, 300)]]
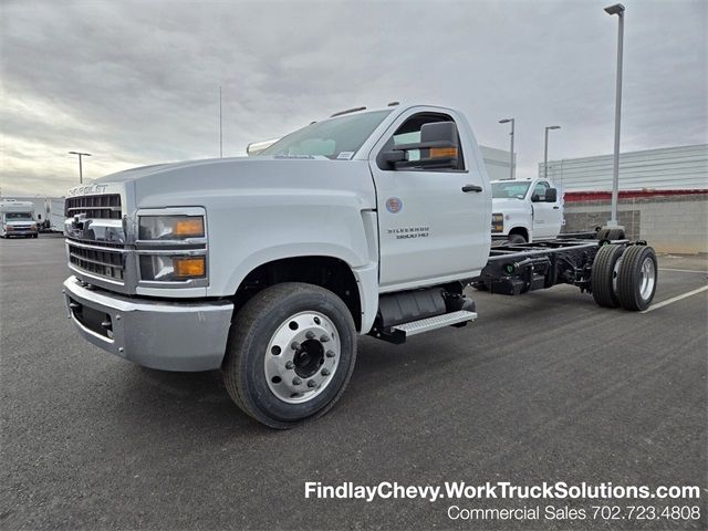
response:
[[(659, 268), (655, 304), (708, 283), (705, 257)], [(362, 339), (337, 406), (283, 433), (217, 372), (144, 369), (80, 339), (67, 274), (61, 238), (0, 241), (2, 529), (706, 529), (708, 291), (643, 314), (570, 287), (475, 293), (471, 326)], [(678, 504), (702, 518), (469, 522), (446, 500), (304, 498), (305, 481), (446, 480), (696, 485)]]

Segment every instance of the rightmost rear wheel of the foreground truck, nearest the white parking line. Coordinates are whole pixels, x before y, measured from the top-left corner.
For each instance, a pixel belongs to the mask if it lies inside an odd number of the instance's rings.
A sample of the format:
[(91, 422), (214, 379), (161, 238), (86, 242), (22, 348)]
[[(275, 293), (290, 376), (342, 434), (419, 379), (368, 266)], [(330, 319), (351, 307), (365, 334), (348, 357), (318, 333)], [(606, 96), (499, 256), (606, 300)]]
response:
[(658, 282), (658, 263), (654, 249), (628, 247), (620, 266), (617, 299), (625, 310), (641, 312), (649, 308)]

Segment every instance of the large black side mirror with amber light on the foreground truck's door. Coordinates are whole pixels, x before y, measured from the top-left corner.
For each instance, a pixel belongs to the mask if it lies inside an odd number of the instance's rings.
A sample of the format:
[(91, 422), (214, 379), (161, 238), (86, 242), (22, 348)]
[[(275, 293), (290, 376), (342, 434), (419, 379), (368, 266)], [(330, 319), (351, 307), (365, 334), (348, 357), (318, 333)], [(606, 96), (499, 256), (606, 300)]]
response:
[[(419, 152), (419, 158), (410, 158), (410, 152)], [(459, 159), (459, 136), (455, 122), (433, 122), (420, 127), (420, 142), (400, 144), (391, 152), (382, 153), (381, 160), (395, 169), (457, 168)]]

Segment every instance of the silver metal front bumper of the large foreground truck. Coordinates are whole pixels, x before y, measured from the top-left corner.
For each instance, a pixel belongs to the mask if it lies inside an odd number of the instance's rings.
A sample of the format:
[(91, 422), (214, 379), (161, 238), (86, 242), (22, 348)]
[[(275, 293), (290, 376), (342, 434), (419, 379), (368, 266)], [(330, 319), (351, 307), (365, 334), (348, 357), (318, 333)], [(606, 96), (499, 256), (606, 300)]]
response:
[(69, 317), (87, 341), (138, 365), (211, 371), (226, 353), (233, 304), (131, 299), (64, 281)]

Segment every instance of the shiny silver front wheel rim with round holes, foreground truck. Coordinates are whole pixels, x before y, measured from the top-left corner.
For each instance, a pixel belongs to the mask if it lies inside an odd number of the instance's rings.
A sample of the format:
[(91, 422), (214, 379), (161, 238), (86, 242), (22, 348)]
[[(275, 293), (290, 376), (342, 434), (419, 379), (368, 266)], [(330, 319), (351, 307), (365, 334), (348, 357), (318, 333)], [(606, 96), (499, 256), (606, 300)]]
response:
[(320, 395), (332, 382), (342, 352), (334, 323), (320, 312), (283, 321), (268, 343), (263, 369), (271, 393), (288, 404)]

